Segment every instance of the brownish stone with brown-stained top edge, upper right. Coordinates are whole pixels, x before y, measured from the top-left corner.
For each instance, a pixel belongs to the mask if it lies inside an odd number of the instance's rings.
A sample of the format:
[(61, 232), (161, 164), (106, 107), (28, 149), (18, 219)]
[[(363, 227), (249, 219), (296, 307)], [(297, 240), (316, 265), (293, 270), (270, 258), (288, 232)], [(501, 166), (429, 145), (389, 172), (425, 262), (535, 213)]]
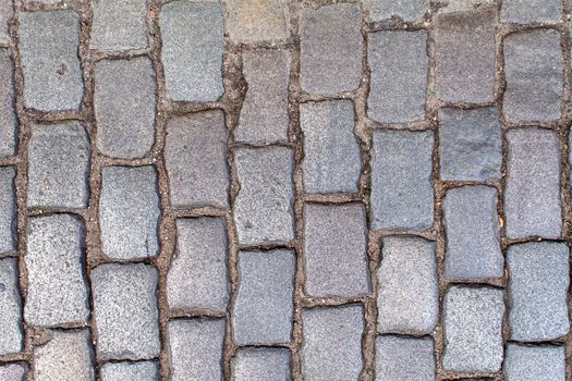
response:
[(435, 22), (437, 97), (450, 102), (494, 101), (494, 11), (443, 13)]

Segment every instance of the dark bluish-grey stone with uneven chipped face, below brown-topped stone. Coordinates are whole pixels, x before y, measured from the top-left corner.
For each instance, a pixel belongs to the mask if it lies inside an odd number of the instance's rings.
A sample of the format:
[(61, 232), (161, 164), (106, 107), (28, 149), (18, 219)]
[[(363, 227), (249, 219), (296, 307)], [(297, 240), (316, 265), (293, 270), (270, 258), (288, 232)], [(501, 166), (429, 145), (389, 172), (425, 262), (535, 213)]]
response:
[(441, 180), (500, 179), (502, 133), (498, 109), (441, 109), (439, 121)]

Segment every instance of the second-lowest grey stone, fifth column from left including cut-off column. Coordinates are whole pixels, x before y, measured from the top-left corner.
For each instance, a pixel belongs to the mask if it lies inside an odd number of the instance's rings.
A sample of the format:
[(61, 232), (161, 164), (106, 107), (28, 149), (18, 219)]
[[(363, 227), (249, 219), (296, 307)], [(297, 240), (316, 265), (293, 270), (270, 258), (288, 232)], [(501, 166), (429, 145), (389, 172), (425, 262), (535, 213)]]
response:
[(295, 268), (291, 250), (239, 254), (239, 290), (232, 311), (238, 345), (291, 342)]

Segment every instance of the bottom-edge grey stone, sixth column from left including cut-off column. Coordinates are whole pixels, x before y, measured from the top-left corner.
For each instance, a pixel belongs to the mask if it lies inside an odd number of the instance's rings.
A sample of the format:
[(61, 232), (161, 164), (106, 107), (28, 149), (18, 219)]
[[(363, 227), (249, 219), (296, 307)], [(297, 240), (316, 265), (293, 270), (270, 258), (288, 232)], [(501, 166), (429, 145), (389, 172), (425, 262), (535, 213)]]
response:
[(361, 306), (316, 307), (302, 310), (300, 351), (305, 380), (357, 380), (363, 368)]

